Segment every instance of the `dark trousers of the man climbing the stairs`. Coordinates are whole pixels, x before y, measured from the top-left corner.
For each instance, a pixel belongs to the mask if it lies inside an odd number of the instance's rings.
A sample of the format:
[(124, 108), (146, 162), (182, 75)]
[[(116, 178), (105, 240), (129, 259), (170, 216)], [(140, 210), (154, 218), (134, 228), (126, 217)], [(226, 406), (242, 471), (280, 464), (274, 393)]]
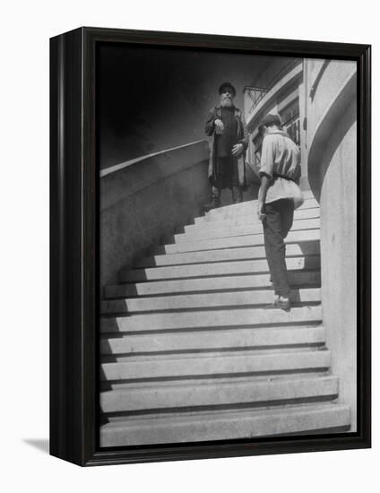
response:
[(284, 238), (293, 224), (294, 203), (281, 199), (265, 203), (263, 221), (263, 238), (265, 255), (271, 272), (271, 279), (276, 295), (289, 298), (289, 284), (285, 263), (286, 248)]

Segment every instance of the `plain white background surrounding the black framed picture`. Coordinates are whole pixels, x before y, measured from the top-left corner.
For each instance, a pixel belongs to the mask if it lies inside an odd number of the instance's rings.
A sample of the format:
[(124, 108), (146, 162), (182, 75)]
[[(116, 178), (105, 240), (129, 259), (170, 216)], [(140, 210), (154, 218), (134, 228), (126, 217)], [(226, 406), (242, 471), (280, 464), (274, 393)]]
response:
[[(229, 6), (231, 5), (231, 6)], [(374, 136), (380, 134), (380, 49), (373, 0), (305, 4), (17, 1), (2, 6), (2, 433), (4, 491), (353, 492), (378, 489), (379, 259), (374, 257), (374, 448), (372, 450), (152, 463), (82, 470), (26, 440), (48, 437), (48, 37), (80, 25), (373, 43)], [(376, 143), (376, 139), (374, 138)], [(380, 153), (374, 148), (373, 182)], [(376, 190), (376, 189), (375, 189)], [(380, 207), (374, 196), (374, 217)], [(374, 221), (374, 251), (380, 248)]]

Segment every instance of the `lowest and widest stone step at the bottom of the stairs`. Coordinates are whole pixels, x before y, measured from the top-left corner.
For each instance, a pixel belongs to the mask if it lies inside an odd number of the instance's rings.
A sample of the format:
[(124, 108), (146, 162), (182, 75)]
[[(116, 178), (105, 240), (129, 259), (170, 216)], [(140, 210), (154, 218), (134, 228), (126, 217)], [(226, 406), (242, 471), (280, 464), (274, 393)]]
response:
[(128, 419), (100, 427), (100, 446), (153, 445), (204, 440), (318, 433), (350, 427), (350, 407), (336, 403), (289, 406), (281, 409), (209, 411)]

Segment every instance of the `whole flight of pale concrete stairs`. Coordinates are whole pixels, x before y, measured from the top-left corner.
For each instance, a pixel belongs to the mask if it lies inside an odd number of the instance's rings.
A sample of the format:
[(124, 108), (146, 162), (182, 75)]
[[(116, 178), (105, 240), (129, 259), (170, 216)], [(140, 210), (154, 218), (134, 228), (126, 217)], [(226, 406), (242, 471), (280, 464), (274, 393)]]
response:
[(319, 206), (306, 198), (287, 238), (289, 312), (263, 309), (255, 201), (196, 218), (106, 288), (101, 446), (350, 428), (322, 325)]

